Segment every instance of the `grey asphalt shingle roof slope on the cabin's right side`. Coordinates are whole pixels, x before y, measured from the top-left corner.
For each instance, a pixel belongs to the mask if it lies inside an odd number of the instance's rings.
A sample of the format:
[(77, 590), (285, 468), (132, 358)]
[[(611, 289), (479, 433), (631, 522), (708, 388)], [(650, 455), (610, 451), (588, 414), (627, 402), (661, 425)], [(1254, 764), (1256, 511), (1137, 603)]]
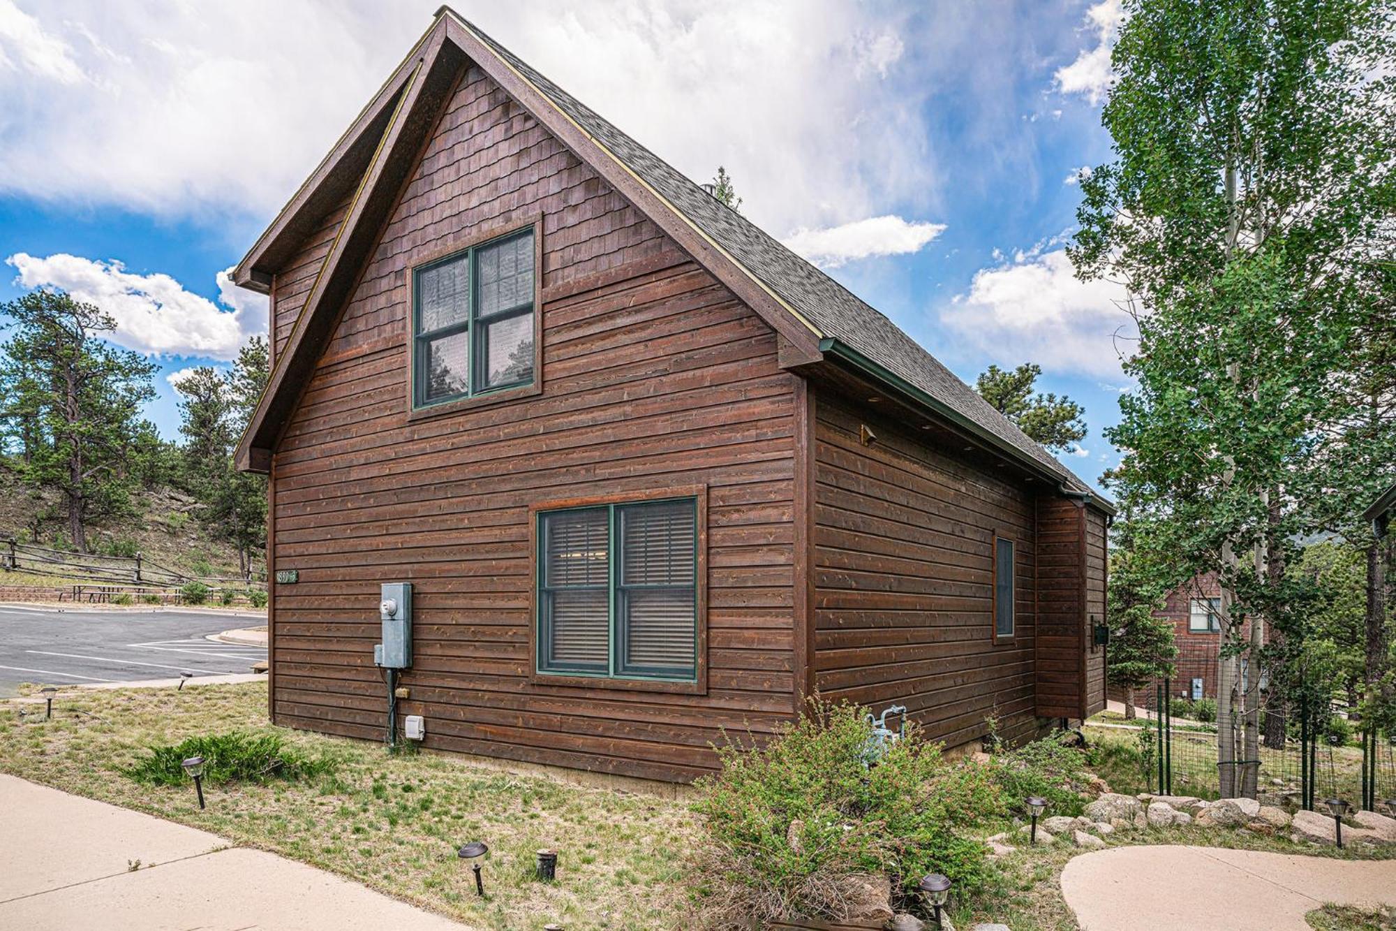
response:
[[(458, 17), (459, 18), (459, 17)], [(1090, 492), (1081, 478), (1051, 453), (990, 407), (973, 389), (927, 352), (879, 310), (790, 252), (745, 217), (685, 178), (575, 96), (557, 87), (475, 24), (480, 36), (511, 67), (553, 101), (597, 143), (611, 151), (646, 185), (659, 192), (694, 225), (740, 261), (782, 301), (810, 320), (822, 337), (833, 338), (888, 372), (920, 389), (974, 426), (1029, 456), (1076, 492)]]

